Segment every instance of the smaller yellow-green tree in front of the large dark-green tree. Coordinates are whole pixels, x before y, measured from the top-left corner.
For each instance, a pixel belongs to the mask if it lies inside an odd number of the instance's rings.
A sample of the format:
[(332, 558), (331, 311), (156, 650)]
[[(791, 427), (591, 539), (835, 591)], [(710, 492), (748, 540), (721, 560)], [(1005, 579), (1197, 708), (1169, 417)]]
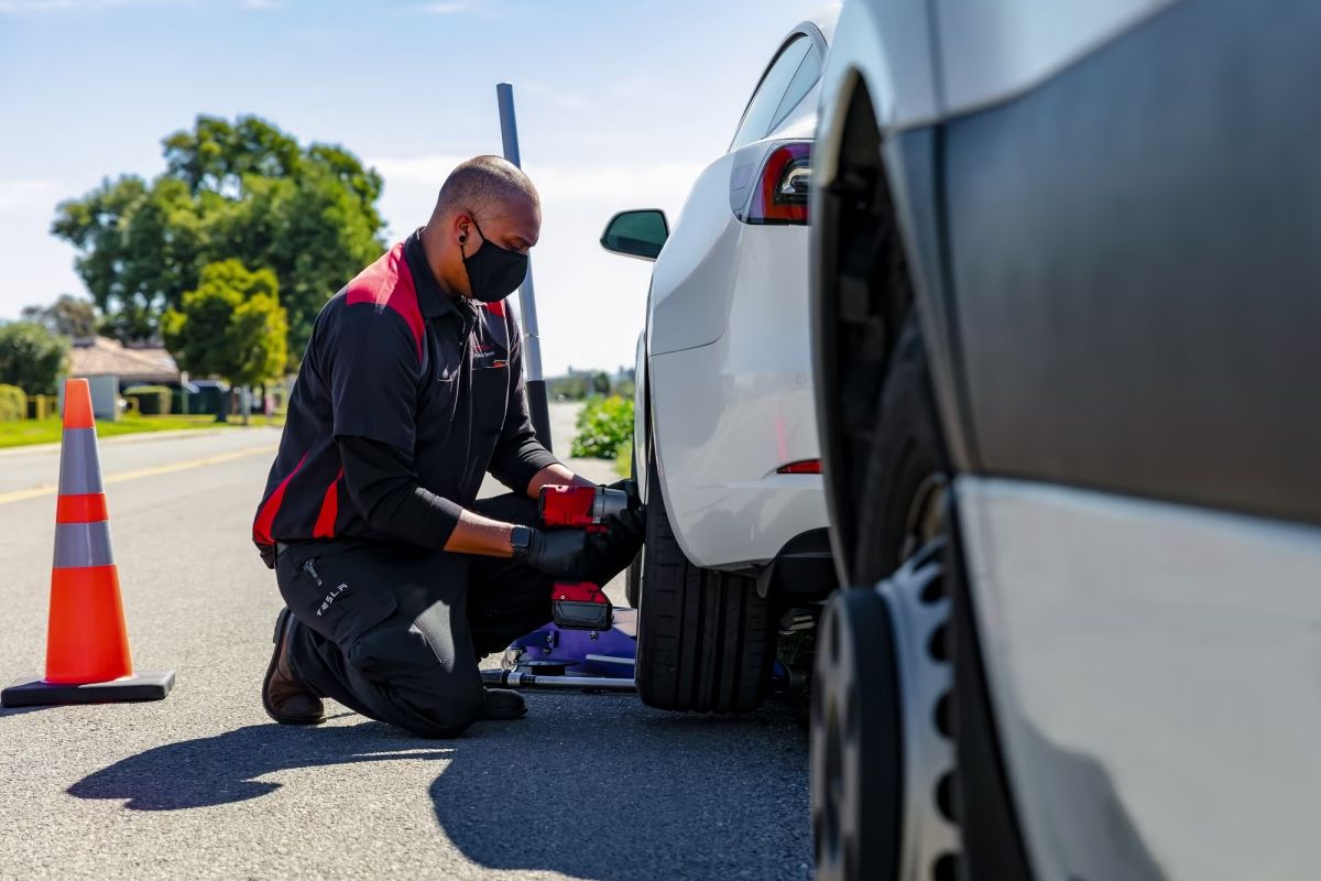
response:
[(271, 269), (251, 272), (238, 260), (209, 263), (181, 308), (161, 317), (165, 345), (190, 374), (219, 376), (232, 387), (264, 384), (284, 372), (288, 353), (279, 289)]

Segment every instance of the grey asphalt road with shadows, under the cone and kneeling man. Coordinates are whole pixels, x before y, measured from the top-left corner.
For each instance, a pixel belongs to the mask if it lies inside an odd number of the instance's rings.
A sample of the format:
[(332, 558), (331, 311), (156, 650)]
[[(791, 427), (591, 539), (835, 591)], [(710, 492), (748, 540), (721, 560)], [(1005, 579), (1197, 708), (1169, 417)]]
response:
[[(552, 409), (567, 448), (573, 412)], [(0, 709), (0, 877), (810, 874), (806, 730), (783, 705), (721, 719), (531, 693), (527, 719), (453, 741), (334, 704), (318, 728), (272, 724), (258, 688), (280, 600), (248, 531), (276, 441), (102, 445), (133, 659), (178, 684), (161, 703)], [(0, 452), (5, 682), (45, 656), (55, 468), (49, 449)]]

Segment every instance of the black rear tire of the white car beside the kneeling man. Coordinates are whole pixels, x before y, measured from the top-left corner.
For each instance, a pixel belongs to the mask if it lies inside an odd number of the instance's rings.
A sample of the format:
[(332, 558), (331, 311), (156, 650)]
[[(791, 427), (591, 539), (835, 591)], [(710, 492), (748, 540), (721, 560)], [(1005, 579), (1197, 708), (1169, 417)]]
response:
[(775, 617), (756, 579), (692, 565), (666, 514), (655, 453), (647, 462), (647, 539), (638, 608), (637, 683), (660, 709), (740, 713), (766, 697)]

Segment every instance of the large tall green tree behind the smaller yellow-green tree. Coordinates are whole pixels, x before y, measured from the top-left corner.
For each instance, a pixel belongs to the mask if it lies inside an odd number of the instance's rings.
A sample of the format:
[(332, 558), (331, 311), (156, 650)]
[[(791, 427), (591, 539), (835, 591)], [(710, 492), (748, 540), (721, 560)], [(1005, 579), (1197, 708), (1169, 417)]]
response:
[(79, 251), (103, 330), (157, 338), (202, 267), (236, 259), (275, 272), (296, 366), (326, 299), (384, 247), (380, 176), (342, 147), (303, 147), (256, 116), (198, 116), (162, 145), (162, 174), (106, 180), (59, 205), (52, 227)]

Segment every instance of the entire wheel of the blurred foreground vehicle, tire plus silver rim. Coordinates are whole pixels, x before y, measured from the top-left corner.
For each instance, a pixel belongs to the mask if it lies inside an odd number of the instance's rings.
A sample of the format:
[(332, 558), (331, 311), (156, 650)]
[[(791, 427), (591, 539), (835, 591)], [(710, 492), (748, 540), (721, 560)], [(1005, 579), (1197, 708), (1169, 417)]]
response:
[(865, 479), (847, 567), (875, 586), (830, 601), (812, 676), (816, 877), (945, 881), (959, 859), (942, 561), (948, 472), (914, 317), (880, 400), (856, 462)]

